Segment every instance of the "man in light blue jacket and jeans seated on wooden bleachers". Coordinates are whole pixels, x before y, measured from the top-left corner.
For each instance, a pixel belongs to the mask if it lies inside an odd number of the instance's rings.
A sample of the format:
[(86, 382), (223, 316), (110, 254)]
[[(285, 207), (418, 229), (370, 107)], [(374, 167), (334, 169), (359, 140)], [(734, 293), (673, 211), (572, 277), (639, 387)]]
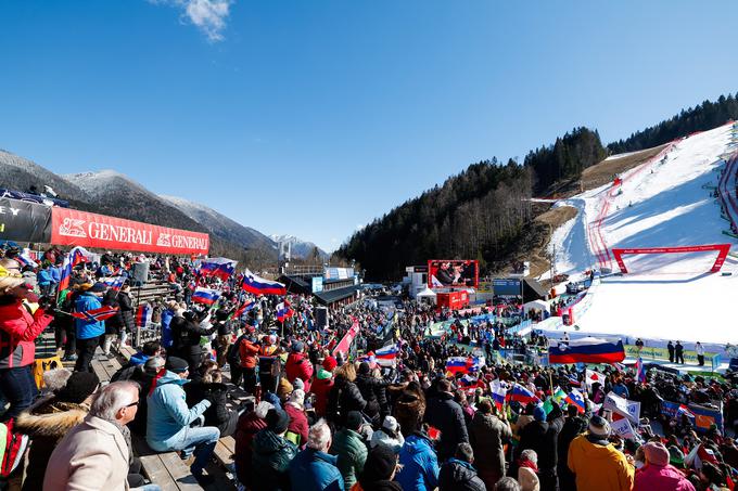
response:
[(215, 426), (190, 426), (211, 406), (211, 401), (203, 399), (192, 408), (187, 405), (182, 386), (189, 382), (188, 366), (181, 358), (168, 357), (166, 371), (154, 379), (147, 397), (147, 443), (156, 452), (181, 451), (182, 458), (194, 454), (190, 471), (201, 486), (206, 486), (213, 477), (204, 475), (203, 469), (213, 456), (220, 430)]

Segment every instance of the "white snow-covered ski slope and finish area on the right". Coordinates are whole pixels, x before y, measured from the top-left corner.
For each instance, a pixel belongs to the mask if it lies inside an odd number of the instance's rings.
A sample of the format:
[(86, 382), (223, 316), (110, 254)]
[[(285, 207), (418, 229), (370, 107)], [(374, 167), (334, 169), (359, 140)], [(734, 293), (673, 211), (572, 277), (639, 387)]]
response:
[[(557, 206), (577, 216), (555, 231), (549, 247), (557, 272), (581, 275), (590, 268), (619, 271), (611, 249), (674, 247), (738, 241), (711, 197), (729, 151), (731, 125), (694, 134), (621, 176), (623, 184), (584, 192)], [(622, 191), (622, 193), (621, 193)], [(738, 253), (738, 249), (735, 250)], [(578, 333), (721, 345), (738, 343), (738, 264), (710, 274), (716, 253), (625, 256), (628, 273), (603, 276), (588, 308), (574, 319)], [(691, 349), (691, 346), (687, 346)]]

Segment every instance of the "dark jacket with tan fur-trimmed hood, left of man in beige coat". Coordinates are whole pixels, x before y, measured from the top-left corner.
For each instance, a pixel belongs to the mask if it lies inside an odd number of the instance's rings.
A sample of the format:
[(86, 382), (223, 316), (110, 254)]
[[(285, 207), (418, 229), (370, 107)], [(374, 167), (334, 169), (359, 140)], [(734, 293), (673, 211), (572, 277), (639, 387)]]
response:
[(67, 431), (85, 421), (88, 410), (87, 405), (55, 402), (52, 398), (30, 412), (18, 415), (14, 429), (28, 435), (33, 440), (28, 450), (28, 464), (25, 468), (24, 491), (36, 491), (43, 487), (43, 475), (51, 452)]

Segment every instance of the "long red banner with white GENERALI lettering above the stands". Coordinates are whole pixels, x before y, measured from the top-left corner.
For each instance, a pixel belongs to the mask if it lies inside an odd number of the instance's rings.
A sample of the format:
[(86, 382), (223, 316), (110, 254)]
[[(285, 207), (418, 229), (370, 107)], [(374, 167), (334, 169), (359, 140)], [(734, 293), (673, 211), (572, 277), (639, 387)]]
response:
[(162, 254), (207, 254), (206, 233), (169, 229), (54, 206), (51, 243), (102, 249)]

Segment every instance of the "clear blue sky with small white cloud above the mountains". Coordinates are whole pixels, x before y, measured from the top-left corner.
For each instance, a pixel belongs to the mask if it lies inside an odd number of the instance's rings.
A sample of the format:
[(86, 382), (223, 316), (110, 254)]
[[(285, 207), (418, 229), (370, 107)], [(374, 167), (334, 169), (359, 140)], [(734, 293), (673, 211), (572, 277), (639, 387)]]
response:
[(735, 1), (0, 2), (0, 147), (335, 248), (480, 159), (738, 91)]

